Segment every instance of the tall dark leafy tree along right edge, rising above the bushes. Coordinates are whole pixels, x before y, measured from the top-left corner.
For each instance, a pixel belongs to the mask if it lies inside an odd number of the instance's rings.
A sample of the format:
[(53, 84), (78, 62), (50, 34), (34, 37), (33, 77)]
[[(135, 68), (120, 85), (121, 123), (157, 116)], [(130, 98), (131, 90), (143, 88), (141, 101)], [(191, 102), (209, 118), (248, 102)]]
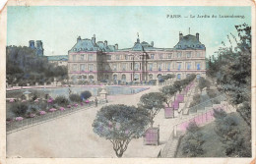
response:
[(223, 42), (224, 46), (217, 52), (218, 57), (212, 58), (207, 74), (217, 80), (219, 89), (224, 91), (232, 105), (238, 107), (237, 111), (250, 125), (251, 27), (243, 24), (235, 28), (238, 38), (232, 33), (227, 35), (230, 46)]

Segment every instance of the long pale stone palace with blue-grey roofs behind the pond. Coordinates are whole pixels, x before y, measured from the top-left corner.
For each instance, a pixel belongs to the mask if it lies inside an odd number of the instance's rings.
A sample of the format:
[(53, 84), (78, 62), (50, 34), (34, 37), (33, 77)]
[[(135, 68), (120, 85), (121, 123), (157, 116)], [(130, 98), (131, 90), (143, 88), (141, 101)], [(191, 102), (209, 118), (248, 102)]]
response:
[(131, 48), (118, 49), (107, 41), (77, 38), (68, 51), (68, 75), (72, 82), (149, 82), (173, 74), (177, 80), (190, 74), (206, 76), (206, 47), (196, 35), (178, 35), (173, 48), (157, 48), (140, 41)]

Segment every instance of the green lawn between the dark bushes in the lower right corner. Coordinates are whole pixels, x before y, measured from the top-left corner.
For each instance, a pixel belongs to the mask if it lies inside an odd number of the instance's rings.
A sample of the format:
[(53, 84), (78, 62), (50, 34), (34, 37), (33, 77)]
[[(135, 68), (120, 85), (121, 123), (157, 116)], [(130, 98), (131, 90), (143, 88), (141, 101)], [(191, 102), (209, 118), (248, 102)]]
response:
[[(237, 119), (238, 126), (237, 128), (241, 131), (241, 135), (246, 140), (246, 145), (250, 146), (250, 127), (245, 123), (245, 121), (240, 117), (240, 115), (237, 112), (229, 113), (227, 115), (231, 115)], [(224, 143), (220, 140), (221, 137), (219, 137), (215, 133), (215, 122), (212, 122), (204, 127), (200, 128), (200, 132), (203, 135), (203, 139), (205, 142), (202, 145), (202, 148), (204, 150), (204, 154), (198, 155), (198, 157), (225, 157), (224, 154)], [(184, 137), (181, 138), (180, 144), (178, 147), (177, 155), (176, 157), (186, 157), (182, 154), (182, 143), (184, 143)]]

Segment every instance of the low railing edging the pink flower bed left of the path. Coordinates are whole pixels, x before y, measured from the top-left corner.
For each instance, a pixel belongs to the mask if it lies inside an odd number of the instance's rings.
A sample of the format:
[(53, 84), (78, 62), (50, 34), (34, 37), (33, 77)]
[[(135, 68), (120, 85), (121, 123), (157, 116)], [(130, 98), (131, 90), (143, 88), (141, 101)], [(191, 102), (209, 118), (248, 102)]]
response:
[[(100, 104), (105, 104), (105, 102), (98, 103), (98, 105)], [(24, 129), (28, 129), (32, 126), (43, 124), (45, 122), (59, 119), (61, 117), (65, 117), (65, 116), (77, 113), (79, 111), (87, 110), (93, 107), (95, 107), (95, 103), (91, 102), (83, 106), (67, 108), (64, 111), (48, 112), (45, 115), (40, 115), (40, 116), (36, 115), (33, 118), (24, 119), (22, 121), (10, 121), (6, 123), (6, 133), (7, 135), (12, 134)]]

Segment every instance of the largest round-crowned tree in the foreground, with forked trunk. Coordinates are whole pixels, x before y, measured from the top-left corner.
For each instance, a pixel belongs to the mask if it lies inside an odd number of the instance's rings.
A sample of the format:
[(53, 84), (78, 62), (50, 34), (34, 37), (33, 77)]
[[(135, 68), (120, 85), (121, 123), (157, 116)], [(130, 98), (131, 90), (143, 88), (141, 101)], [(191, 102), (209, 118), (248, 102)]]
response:
[(117, 157), (122, 157), (133, 138), (142, 137), (149, 125), (148, 112), (135, 106), (108, 105), (96, 113), (94, 132), (110, 140)]

